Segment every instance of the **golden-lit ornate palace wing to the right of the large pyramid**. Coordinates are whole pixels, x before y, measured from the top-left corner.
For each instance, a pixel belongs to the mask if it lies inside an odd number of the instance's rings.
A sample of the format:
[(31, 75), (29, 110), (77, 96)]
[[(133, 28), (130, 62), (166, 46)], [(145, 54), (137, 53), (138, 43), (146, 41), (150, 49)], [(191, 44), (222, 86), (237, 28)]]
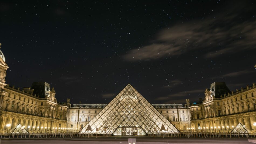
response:
[[(239, 122), (255, 132), (256, 85), (230, 91), (224, 82), (215, 82), (205, 90), (205, 99), (188, 108), (191, 125), (197, 130), (230, 132)], [(198, 129), (199, 128), (199, 129)]]

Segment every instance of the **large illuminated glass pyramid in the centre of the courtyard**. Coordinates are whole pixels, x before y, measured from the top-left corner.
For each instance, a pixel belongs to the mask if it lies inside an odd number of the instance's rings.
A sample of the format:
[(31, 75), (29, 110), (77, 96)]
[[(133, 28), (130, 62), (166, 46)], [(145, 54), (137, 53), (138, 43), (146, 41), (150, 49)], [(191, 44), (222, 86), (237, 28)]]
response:
[[(88, 125), (91, 126), (92, 131), (86, 130)], [(165, 130), (161, 131), (161, 127), (164, 127)], [(179, 130), (130, 84), (117, 94), (79, 133), (98, 132), (120, 135), (120, 129), (140, 131), (140, 135), (146, 135), (148, 132), (179, 133)]]

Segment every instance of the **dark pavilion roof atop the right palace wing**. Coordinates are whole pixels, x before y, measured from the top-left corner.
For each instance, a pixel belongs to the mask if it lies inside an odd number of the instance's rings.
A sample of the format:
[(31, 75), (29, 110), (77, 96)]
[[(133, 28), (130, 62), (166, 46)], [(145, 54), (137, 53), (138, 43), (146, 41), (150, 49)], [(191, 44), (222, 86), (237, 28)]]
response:
[(210, 90), (214, 92), (215, 98), (220, 98), (220, 96), (224, 96), (224, 94), (231, 94), (231, 91), (229, 90), (225, 82), (212, 83)]

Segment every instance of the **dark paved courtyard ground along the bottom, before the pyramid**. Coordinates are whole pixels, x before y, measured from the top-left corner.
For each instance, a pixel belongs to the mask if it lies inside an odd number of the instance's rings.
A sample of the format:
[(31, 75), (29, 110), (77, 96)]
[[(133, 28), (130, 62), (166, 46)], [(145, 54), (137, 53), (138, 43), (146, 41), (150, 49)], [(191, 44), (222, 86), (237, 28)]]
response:
[[(128, 138), (136, 138), (136, 144), (249, 144), (248, 138), (152, 138), (149, 136), (109, 136), (108, 138), (31, 138), (31, 139), (2, 139), (1, 144), (127, 144)], [(255, 138), (249, 138), (255, 139)], [(250, 143), (253, 144), (253, 143)]]

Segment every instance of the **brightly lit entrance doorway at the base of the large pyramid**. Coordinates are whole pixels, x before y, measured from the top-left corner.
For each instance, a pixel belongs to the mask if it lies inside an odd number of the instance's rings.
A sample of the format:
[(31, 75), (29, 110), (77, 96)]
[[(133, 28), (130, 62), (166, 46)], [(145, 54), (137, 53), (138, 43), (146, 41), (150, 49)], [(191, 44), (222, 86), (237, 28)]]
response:
[(114, 132), (114, 135), (138, 136), (146, 135), (146, 132), (144, 132), (141, 127), (118, 127)]

